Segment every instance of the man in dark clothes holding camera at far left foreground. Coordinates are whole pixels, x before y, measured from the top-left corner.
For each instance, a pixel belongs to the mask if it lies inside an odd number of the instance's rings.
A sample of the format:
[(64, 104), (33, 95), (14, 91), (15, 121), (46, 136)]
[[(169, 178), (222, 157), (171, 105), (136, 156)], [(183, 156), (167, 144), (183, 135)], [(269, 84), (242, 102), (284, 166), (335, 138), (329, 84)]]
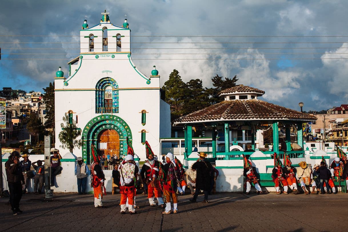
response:
[(13, 151), (5, 163), (13, 215), (22, 213), (22, 210), (19, 209), (19, 201), (21, 201), (23, 194), (22, 184), (24, 184), (24, 176), (22, 167), (19, 165), (19, 158), (21, 158), (21, 155), (17, 151)]

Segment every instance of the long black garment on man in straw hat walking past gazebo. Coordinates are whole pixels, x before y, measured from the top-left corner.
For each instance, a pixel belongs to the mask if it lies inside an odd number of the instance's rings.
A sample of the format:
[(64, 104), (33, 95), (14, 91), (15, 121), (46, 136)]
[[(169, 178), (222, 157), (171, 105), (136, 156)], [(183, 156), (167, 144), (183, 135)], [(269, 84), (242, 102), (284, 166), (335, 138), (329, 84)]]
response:
[(201, 189), (204, 191), (210, 190), (210, 171), (212, 170), (212, 165), (207, 160), (197, 161), (192, 165), (192, 169), (196, 169), (196, 189)]

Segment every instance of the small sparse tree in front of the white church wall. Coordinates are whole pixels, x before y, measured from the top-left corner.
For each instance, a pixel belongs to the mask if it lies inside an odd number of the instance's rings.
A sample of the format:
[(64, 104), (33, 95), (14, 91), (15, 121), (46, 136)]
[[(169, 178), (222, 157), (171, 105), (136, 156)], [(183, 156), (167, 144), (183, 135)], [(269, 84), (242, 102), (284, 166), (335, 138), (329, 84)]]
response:
[(63, 117), (65, 123), (61, 123), (62, 131), (59, 133), (58, 138), (61, 141), (63, 149), (67, 148), (73, 153), (74, 147), (80, 148), (82, 145), (81, 139), (76, 139), (81, 135), (81, 129), (77, 128), (75, 120), (72, 120), (72, 124), (69, 123), (69, 116), (65, 113)]

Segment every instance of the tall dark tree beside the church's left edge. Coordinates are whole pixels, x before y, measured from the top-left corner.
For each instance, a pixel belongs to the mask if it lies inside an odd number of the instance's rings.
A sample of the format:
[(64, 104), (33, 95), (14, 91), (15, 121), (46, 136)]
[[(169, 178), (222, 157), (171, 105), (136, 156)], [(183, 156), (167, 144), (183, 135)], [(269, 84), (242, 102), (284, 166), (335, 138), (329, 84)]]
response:
[(53, 130), (54, 134), (54, 82), (49, 82), (46, 88), (42, 88), (45, 91), (44, 101), (46, 104), (46, 116), (45, 128)]

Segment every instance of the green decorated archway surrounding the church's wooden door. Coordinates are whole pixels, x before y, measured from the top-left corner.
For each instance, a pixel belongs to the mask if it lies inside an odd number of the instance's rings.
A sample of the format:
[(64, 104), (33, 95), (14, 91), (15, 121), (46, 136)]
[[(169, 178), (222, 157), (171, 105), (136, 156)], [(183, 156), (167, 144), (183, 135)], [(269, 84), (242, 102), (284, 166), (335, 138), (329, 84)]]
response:
[(127, 137), (132, 141), (128, 124), (116, 115), (103, 114), (91, 119), (82, 132), (82, 159), (90, 163), (90, 145), (97, 147), (98, 135), (105, 129), (114, 129), (120, 136), (120, 155), (127, 154)]

